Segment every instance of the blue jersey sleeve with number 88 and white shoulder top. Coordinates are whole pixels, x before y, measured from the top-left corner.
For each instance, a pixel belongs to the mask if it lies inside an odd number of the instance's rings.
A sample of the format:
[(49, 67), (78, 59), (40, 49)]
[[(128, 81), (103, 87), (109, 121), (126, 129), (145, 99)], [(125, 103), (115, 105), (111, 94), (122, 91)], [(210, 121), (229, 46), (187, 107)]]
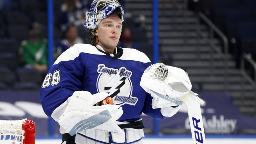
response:
[(45, 114), (49, 117), (74, 91), (83, 90), (85, 68), (79, 54), (74, 54), (72, 49), (58, 57), (42, 84), (40, 100)]

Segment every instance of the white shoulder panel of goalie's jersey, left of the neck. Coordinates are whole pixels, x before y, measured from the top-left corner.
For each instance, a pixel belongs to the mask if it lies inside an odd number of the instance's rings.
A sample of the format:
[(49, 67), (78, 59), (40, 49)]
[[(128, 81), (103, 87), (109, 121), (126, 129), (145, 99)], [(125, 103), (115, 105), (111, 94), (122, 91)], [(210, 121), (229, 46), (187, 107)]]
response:
[(65, 52), (63, 52), (57, 58), (57, 60), (54, 62), (53, 65), (57, 65), (59, 62), (62, 62), (62, 61), (74, 60), (76, 57), (79, 56), (80, 53), (105, 55), (105, 54), (101, 53), (100, 51), (98, 51), (95, 46), (92, 46), (90, 44), (78, 43), (78, 44), (74, 44), (69, 49), (67, 49)]

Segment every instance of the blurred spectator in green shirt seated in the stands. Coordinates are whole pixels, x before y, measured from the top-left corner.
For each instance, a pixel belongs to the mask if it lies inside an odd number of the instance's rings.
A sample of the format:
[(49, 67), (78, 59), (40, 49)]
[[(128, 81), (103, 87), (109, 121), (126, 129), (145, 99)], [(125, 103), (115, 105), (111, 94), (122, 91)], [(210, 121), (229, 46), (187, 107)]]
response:
[(41, 38), (42, 25), (34, 22), (29, 28), (29, 39), (21, 42), (19, 53), (26, 68), (34, 68), (45, 74), (48, 70), (47, 39)]

